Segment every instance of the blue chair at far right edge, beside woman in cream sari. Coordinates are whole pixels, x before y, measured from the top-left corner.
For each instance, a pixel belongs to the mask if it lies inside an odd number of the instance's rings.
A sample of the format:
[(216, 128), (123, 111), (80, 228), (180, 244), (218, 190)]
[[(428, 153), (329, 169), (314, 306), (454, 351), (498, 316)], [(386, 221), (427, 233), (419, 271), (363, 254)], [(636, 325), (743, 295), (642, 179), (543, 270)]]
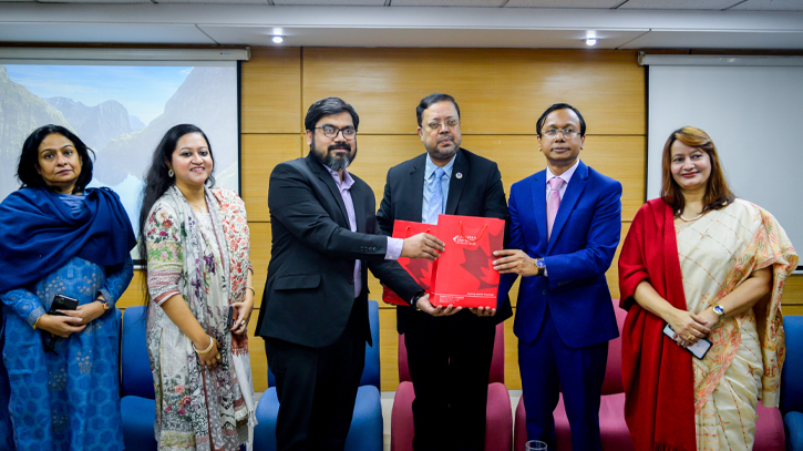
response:
[(781, 412), (786, 427), (786, 449), (803, 451), (803, 316), (783, 318), (786, 361), (781, 373)]

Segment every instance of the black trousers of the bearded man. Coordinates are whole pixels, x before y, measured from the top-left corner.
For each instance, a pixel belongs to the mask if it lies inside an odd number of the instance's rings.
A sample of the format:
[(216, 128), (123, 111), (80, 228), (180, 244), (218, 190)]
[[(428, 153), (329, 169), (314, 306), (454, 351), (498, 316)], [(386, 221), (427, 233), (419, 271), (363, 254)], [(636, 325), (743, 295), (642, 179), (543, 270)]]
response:
[(366, 365), (367, 326), (362, 322), (368, 318), (363, 316), (363, 309), (353, 308), (343, 334), (323, 348), (265, 339), (279, 397), (279, 451), (329, 451), (346, 445)]

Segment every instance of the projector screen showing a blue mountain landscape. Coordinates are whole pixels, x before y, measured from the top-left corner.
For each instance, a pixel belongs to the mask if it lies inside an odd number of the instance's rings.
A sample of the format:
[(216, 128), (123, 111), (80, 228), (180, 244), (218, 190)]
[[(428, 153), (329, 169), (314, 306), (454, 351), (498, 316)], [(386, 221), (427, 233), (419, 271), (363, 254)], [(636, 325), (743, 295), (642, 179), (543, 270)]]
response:
[(143, 178), (173, 125), (208, 136), (218, 186), (239, 192), (237, 61), (0, 60), (0, 199), (19, 188), (22, 143), (63, 125), (95, 153), (90, 186), (109, 186), (137, 229)]

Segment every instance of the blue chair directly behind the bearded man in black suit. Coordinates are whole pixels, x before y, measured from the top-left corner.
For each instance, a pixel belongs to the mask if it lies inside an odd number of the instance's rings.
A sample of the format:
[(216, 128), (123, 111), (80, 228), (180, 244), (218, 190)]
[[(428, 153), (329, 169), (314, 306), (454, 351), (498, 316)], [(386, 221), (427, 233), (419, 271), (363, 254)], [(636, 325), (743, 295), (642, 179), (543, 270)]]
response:
[[(379, 371), (379, 305), (368, 301), (373, 346), (366, 345), (366, 368), (362, 370), (360, 388), (357, 390), (354, 414), (351, 419), (346, 451), (382, 451), (382, 403), (380, 401)], [(269, 363), (268, 363), (269, 365)], [(254, 451), (276, 451), (276, 419), (279, 413), (279, 398), (276, 380), (268, 368), (268, 390), (257, 404), (257, 421), (254, 428)]]

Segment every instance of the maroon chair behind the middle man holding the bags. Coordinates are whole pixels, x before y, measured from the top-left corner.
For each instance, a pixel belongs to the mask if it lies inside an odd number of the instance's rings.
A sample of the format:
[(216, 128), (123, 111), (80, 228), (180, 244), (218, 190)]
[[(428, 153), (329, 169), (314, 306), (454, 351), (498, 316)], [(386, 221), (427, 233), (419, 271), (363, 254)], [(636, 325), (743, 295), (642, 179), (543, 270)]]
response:
[[(408, 351), (404, 335), (399, 336), (399, 388), (393, 399), (390, 426), (391, 451), (412, 451), (413, 399), (415, 390), (408, 368)], [(511, 394), (505, 387), (505, 329), (496, 325), (494, 353), (488, 375), (488, 400), (485, 413), (485, 451), (509, 451), (513, 443), (513, 416)]]

